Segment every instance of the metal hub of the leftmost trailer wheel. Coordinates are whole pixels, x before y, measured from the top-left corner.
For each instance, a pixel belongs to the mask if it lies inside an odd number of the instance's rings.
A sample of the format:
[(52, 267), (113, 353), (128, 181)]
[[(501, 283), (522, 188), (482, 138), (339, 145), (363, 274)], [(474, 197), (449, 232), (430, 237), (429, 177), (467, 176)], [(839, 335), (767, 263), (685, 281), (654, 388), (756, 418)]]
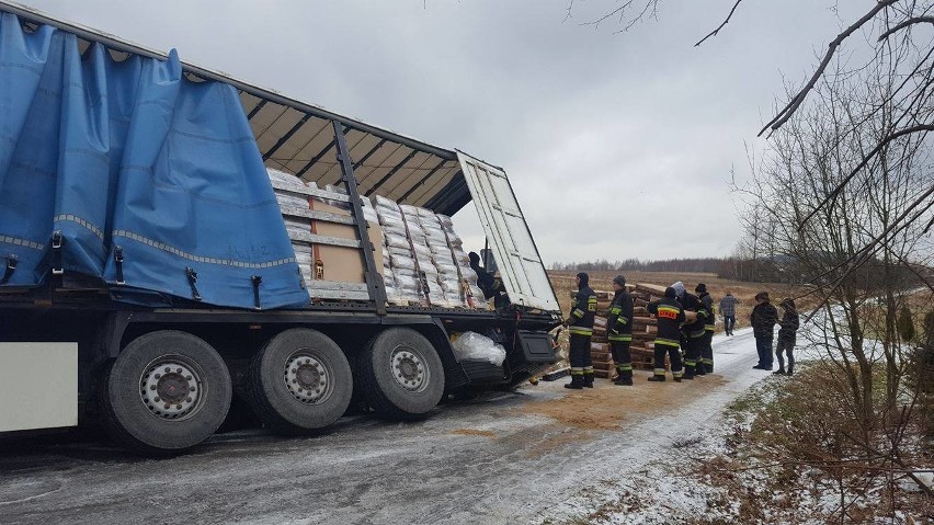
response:
[(201, 397), (201, 377), (178, 361), (160, 361), (140, 377), (139, 397), (152, 415), (176, 420), (192, 412)]

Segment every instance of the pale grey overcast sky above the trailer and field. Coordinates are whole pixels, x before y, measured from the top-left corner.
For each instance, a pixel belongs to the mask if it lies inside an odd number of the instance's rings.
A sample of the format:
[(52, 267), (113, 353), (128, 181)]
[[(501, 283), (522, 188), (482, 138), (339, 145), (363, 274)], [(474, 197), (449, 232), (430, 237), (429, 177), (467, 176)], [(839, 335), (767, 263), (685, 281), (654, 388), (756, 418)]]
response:
[[(615, 0), (29, 0), (55, 18), (501, 166), (546, 264), (726, 256), (729, 189), (785, 79), (872, 3), (664, 0), (618, 33)], [(221, 8), (223, 7), (223, 8)], [(472, 212), (458, 231), (477, 242)], [(475, 247), (470, 247), (475, 248)]]

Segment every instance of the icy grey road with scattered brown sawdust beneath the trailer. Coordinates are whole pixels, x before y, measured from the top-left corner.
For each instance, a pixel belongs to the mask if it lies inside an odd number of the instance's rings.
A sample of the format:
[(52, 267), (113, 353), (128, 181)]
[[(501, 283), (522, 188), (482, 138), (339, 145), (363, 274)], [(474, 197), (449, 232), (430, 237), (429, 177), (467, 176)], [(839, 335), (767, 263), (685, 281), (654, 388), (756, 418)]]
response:
[[(528, 523), (600, 480), (682, 454), (768, 374), (750, 329), (714, 340), (716, 373), (635, 387), (567, 379), (438, 408), (424, 422), (344, 418), (315, 438), (218, 435), (172, 459), (106, 444), (0, 449), (0, 523)], [(3, 446), (0, 443), (0, 446)]]

